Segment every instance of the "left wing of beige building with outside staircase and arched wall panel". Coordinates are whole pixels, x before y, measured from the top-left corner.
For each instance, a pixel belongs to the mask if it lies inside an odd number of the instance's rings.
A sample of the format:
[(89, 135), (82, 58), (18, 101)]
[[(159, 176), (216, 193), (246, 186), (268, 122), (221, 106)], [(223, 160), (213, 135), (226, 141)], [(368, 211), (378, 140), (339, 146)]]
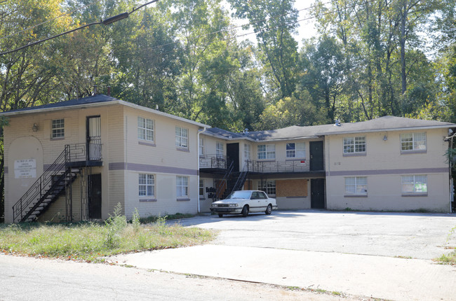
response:
[(102, 94), (1, 116), (6, 223), (198, 210), (207, 125)]

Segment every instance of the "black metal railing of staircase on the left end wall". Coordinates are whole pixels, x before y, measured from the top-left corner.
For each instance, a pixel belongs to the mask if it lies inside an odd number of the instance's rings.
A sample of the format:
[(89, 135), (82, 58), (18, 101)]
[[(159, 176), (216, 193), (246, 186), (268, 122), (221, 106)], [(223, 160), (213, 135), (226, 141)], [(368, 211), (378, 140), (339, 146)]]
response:
[[(58, 155), (53, 164), (46, 169), (43, 174), (32, 184), (27, 192), (13, 205), (13, 222), (25, 221), (36, 208), (36, 204), (47, 197), (50, 191), (53, 190), (53, 176), (63, 176), (65, 167), (69, 160), (69, 146), (65, 146), (64, 151)], [(65, 175), (66, 177), (67, 175)], [(64, 178), (65, 178), (64, 177)], [(55, 178), (54, 178), (55, 179)], [(47, 195), (46, 195), (47, 194)], [(45, 196), (46, 195), (46, 196)], [(27, 215), (28, 214), (28, 215)], [(27, 216), (27, 217), (26, 217)]]

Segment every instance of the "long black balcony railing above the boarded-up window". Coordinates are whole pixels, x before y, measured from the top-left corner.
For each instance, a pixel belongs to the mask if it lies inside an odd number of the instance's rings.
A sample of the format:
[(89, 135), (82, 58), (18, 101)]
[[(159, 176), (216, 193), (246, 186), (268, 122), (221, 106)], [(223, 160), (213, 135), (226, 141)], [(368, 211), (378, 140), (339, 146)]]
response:
[(305, 160), (295, 161), (256, 161), (246, 160), (248, 172), (309, 172), (309, 163)]

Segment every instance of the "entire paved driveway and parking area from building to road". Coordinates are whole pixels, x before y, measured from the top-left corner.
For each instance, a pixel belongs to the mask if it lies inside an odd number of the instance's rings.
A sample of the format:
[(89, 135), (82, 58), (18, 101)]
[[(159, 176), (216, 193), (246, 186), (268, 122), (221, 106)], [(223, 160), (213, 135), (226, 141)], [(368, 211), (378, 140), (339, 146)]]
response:
[[(450, 214), (275, 211), (200, 216), (211, 244), (118, 255), (119, 264), (387, 300), (456, 300), (456, 267), (431, 258), (456, 246)], [(447, 247), (447, 248), (445, 248)]]

